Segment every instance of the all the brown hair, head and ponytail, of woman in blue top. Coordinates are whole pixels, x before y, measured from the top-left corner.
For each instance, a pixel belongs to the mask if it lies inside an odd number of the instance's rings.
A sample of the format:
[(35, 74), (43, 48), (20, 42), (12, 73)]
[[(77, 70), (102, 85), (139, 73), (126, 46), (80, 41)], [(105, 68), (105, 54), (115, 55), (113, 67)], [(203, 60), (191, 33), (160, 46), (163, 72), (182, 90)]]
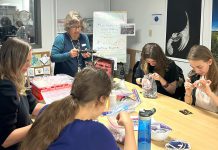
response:
[(48, 149), (65, 126), (74, 121), (80, 106), (98, 102), (101, 96), (108, 97), (111, 89), (112, 82), (105, 71), (84, 68), (75, 76), (71, 95), (52, 103), (38, 116), (21, 144), (21, 150)]

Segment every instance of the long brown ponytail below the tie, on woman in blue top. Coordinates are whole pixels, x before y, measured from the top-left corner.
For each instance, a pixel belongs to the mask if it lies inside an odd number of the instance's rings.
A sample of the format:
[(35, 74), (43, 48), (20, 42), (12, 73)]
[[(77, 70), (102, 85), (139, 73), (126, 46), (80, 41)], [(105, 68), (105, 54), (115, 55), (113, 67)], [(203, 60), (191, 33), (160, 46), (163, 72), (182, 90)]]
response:
[[(62, 129), (72, 122), (79, 105), (73, 96), (53, 102), (35, 120), (20, 150), (46, 150), (58, 138)], [(31, 148), (30, 148), (31, 146)]]

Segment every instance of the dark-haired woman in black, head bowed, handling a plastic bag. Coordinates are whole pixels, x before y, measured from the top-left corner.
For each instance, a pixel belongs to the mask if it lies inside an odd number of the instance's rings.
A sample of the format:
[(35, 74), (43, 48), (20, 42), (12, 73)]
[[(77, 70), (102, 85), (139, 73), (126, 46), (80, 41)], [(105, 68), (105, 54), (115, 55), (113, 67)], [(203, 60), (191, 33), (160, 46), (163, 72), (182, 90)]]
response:
[(136, 83), (141, 84), (141, 79), (148, 73), (152, 73), (151, 76), (156, 81), (159, 93), (183, 100), (182, 96), (178, 97), (175, 94), (179, 82), (182, 82), (179, 78), (178, 66), (164, 55), (163, 50), (156, 43), (148, 43), (143, 47), (140, 64), (135, 73)]

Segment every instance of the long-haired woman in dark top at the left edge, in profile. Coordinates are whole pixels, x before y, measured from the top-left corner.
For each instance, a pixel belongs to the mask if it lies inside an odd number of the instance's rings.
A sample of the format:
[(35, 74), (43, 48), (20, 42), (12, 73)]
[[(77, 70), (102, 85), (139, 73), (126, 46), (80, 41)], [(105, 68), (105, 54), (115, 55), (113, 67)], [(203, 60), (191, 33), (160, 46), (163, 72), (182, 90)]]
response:
[(16, 150), (31, 127), (30, 114), (44, 106), (37, 104), (25, 88), (24, 73), (30, 66), (28, 43), (8, 39), (0, 49), (0, 149)]

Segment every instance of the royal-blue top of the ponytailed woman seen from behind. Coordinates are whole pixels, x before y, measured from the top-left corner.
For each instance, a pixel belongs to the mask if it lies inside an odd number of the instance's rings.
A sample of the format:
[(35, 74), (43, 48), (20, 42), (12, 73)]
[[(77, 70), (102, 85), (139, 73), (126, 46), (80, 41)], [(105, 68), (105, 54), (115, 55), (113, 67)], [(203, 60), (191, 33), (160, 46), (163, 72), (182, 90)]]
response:
[(110, 131), (92, 120), (74, 120), (68, 124), (49, 150), (119, 150)]

